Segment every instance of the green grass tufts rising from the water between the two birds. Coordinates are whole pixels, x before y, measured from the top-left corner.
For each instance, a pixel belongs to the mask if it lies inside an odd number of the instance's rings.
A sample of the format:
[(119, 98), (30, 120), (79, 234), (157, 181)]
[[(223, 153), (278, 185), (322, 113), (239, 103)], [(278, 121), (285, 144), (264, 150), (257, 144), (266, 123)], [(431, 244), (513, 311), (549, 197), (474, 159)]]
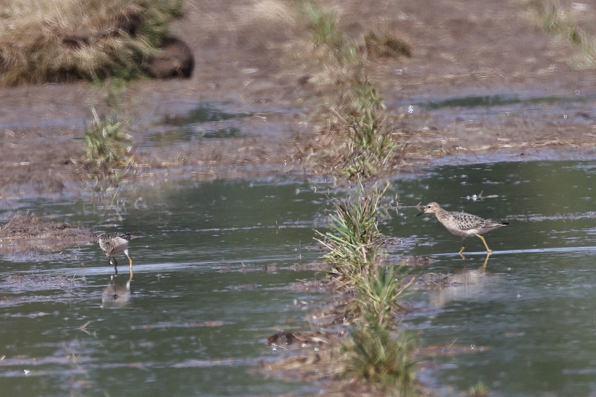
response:
[(384, 265), (380, 253), (384, 237), (378, 230), (384, 189), (368, 192), (361, 186), (355, 198), (334, 203), (331, 230), (318, 232), (329, 249), (324, 259), (340, 284), (352, 295), (352, 338), (344, 344), (344, 375), (386, 394), (412, 395), (415, 387), (415, 337), (395, 332), (395, 312), (401, 308), (411, 282), (402, 266)]

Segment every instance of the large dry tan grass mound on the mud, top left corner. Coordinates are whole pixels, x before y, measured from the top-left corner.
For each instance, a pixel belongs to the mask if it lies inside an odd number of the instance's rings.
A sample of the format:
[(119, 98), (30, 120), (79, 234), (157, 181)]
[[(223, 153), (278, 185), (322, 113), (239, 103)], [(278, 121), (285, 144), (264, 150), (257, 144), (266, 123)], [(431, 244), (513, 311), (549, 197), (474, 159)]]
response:
[(0, 85), (132, 79), (181, 0), (9, 0), (0, 5)]

